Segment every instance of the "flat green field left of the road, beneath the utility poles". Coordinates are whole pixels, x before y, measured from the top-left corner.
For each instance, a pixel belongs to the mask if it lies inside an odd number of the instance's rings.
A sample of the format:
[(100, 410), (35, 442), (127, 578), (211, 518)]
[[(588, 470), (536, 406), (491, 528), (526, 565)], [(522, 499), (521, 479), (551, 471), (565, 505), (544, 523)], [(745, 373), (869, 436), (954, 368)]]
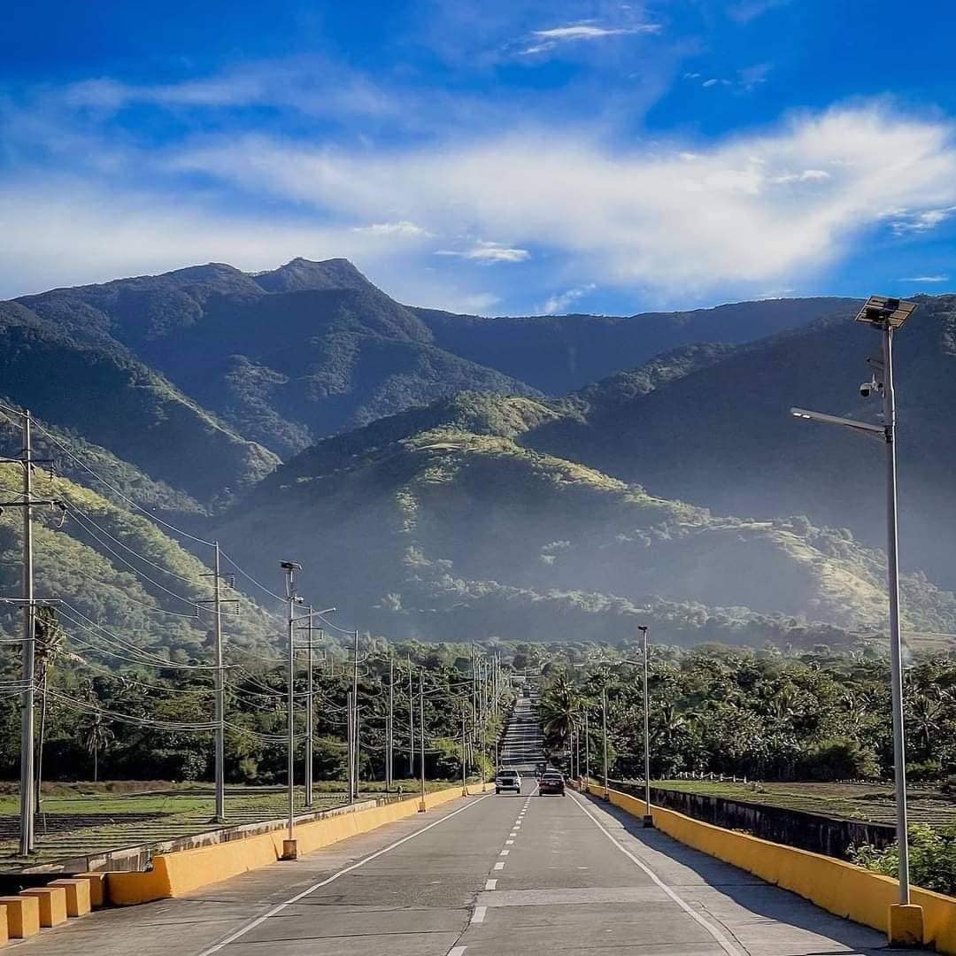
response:
[[(414, 780), (396, 782), (403, 793), (418, 793)], [(428, 790), (448, 786), (429, 781)], [(216, 829), (215, 794), (208, 784), (54, 784), (44, 786), (41, 812), (36, 816), (36, 853), (25, 862), (18, 856), (19, 806), (15, 791), (0, 793), (0, 871), (89, 856), (124, 847), (152, 845), (177, 836)], [(12, 792), (11, 792), (12, 791)], [(313, 810), (327, 810), (346, 800), (343, 781), (315, 784)], [(384, 796), (382, 784), (365, 783), (359, 799)], [(257, 823), (287, 813), (287, 792), (281, 787), (227, 787), (228, 824)], [(297, 788), (298, 813), (308, 813), (305, 794)]]

